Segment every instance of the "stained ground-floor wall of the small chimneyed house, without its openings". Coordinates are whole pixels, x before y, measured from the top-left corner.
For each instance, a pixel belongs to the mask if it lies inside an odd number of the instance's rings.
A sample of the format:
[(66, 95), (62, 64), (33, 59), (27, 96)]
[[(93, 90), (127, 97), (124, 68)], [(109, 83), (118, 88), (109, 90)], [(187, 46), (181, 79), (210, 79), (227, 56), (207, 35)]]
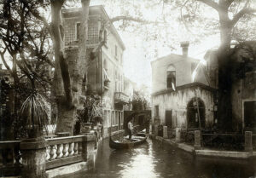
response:
[[(177, 91), (152, 96), (152, 106), (159, 106), (160, 124), (166, 122), (166, 110), (172, 110), (172, 127), (187, 127), (187, 105), (195, 96), (205, 105), (206, 127), (213, 124), (213, 94), (211, 90), (199, 86), (178, 89)], [(154, 108), (152, 116), (155, 117)]]

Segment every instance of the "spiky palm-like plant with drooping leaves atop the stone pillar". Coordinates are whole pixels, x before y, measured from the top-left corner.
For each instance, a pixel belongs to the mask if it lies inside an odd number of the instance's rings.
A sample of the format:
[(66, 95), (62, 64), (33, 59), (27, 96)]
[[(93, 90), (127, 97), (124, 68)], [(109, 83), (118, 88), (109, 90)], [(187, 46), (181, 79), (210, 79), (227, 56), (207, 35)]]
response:
[(20, 113), (26, 116), (26, 123), (29, 129), (36, 129), (38, 127), (42, 131), (45, 128), (46, 132), (48, 132), (47, 125), (50, 120), (50, 105), (45, 100), (44, 95), (33, 92), (23, 102)]

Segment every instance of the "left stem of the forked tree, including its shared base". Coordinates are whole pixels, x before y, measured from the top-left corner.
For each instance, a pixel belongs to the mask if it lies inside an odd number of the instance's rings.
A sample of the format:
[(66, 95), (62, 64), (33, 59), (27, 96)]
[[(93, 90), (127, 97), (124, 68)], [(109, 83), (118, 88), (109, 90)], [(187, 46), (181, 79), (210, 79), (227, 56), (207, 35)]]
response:
[(51, 0), (53, 44), (55, 49), (54, 90), (57, 104), (57, 126), (55, 132), (69, 132), (73, 135), (73, 103), (68, 63), (65, 58), (61, 24), (61, 7), (64, 0)]

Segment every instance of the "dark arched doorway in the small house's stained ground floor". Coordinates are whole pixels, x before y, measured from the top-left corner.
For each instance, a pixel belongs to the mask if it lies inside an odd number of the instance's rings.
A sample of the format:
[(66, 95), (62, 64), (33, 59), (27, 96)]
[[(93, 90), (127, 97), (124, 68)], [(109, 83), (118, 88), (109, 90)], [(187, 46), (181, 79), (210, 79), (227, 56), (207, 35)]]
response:
[[(192, 98), (192, 100), (189, 100), (189, 103), (187, 106), (187, 128), (199, 129), (200, 126), (201, 126), (201, 129), (205, 128), (205, 123), (206, 123), (205, 113), (206, 113), (206, 108), (203, 100), (196, 97)], [(201, 123), (201, 125), (199, 123)]]

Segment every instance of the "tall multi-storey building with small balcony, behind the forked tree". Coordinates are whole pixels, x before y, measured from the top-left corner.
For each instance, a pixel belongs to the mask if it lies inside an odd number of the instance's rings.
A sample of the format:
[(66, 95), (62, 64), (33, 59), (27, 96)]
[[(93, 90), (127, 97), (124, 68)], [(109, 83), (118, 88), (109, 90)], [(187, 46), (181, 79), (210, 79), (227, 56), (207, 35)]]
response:
[[(80, 9), (62, 10), (65, 46), (69, 55), (78, 55)], [(104, 24), (103, 32), (102, 26)], [(124, 94), (123, 53), (125, 45), (114, 28), (108, 14), (102, 6), (89, 9), (88, 45), (86, 56), (99, 44), (104, 36), (106, 43), (93, 59), (84, 81), (84, 95), (98, 95), (103, 106), (103, 135), (107, 136), (109, 128), (113, 131), (123, 129), (124, 109), (128, 96)], [(69, 61), (69, 64), (75, 62)]]

